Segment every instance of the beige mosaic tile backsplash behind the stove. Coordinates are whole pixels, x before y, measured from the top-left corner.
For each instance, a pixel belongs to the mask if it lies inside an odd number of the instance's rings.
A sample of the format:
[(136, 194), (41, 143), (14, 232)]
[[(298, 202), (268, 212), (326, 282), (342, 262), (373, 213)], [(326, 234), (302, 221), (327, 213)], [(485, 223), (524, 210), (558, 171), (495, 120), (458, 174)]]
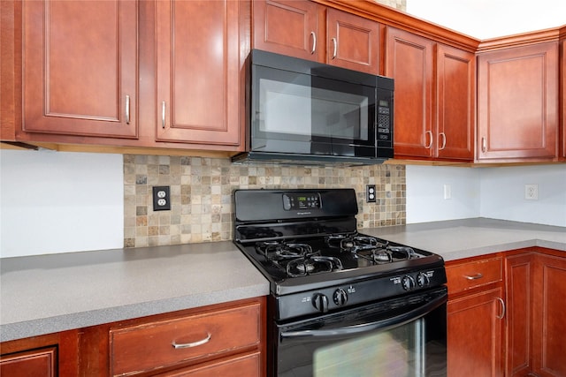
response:
[[(154, 211), (152, 187), (171, 187), (171, 210)], [(366, 203), (365, 185), (376, 185)], [(242, 188), (354, 188), (358, 228), (406, 221), (405, 167), (235, 165), (229, 159), (124, 155), (124, 247), (232, 240), (232, 192)]]

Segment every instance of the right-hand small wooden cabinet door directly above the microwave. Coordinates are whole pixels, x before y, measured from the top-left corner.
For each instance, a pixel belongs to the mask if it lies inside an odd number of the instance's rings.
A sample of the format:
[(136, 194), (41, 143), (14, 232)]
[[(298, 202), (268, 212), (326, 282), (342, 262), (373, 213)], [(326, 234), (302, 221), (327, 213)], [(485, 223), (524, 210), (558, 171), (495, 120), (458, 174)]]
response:
[(326, 63), (379, 73), (379, 23), (344, 11), (326, 11)]

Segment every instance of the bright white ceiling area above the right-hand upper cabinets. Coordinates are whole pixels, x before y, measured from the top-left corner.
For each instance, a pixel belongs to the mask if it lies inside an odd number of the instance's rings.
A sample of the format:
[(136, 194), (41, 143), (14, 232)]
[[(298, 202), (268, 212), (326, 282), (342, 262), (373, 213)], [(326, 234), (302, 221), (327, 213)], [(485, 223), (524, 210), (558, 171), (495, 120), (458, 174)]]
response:
[(566, 25), (565, 0), (407, 0), (407, 12), (478, 39)]

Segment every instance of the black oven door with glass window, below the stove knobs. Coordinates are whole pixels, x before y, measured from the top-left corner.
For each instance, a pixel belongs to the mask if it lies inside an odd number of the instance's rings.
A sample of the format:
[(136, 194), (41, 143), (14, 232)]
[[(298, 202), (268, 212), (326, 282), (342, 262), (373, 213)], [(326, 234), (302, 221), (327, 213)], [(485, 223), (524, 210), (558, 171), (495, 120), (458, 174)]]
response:
[(447, 289), (276, 325), (276, 376), (446, 376)]

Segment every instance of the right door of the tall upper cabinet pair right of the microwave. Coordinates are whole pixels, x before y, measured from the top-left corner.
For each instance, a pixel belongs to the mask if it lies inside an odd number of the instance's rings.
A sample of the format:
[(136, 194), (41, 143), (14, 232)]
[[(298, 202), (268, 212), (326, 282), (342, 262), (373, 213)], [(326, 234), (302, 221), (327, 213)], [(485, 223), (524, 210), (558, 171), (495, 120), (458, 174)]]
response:
[(437, 48), (437, 156), (474, 158), (476, 57), (462, 49)]

